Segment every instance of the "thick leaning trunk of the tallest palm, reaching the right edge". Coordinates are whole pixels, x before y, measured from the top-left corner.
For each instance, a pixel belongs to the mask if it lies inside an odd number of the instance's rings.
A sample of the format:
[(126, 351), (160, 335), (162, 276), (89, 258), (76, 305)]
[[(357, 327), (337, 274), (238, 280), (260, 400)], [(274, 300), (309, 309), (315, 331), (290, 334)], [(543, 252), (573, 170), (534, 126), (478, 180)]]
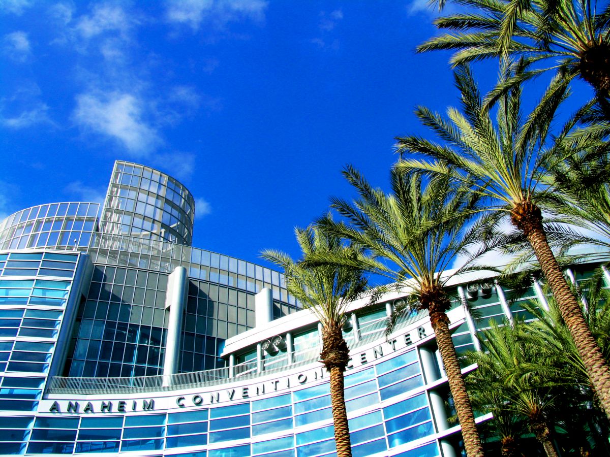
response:
[(564, 319), (570, 335), (572, 335), (578, 354), (583, 360), (593, 388), (600, 399), (601, 407), (610, 419), (610, 368), (608, 362), (601, 353), (597, 342), (595, 342), (595, 338), (584, 319), (583, 310), (572, 291), (570, 291), (553, 251), (548, 245), (539, 208), (531, 204), (522, 205), (521, 208), (520, 220), (515, 222), (515, 219), (513, 219), (514, 224), (523, 230), (536, 254), (540, 269), (547, 278), (548, 285), (551, 287), (553, 297), (561, 312), (561, 317)]

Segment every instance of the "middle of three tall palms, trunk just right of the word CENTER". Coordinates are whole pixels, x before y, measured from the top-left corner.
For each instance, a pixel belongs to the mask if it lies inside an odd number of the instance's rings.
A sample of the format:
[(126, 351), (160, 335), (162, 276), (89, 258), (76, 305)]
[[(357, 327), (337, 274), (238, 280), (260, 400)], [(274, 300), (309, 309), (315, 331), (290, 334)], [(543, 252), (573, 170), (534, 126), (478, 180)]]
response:
[(371, 188), (351, 166), (344, 169), (343, 175), (356, 188), (359, 199), (350, 203), (332, 198), (331, 206), (349, 225), (328, 217), (319, 219), (317, 224), (348, 239), (367, 255), (355, 259), (317, 256), (317, 260), (362, 266), (391, 278), (397, 289), (412, 289), (410, 299), (430, 316), (466, 452), (470, 457), (482, 456), (475, 416), (449, 330), (447, 311), (451, 302), (443, 286), (450, 276), (437, 273), (445, 271), (468, 247), (468, 237), (462, 236), (468, 218), (462, 214), (475, 206), (476, 198), (452, 190), (444, 177), (425, 182), (421, 175), (397, 168), (390, 171), (390, 194)]

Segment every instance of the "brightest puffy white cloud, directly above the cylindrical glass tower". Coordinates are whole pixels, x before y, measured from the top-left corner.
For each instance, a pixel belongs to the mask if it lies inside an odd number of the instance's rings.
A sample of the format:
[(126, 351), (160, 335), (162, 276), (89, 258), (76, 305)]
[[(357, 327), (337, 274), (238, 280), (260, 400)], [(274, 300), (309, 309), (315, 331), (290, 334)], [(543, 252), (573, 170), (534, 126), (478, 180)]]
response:
[(142, 99), (128, 93), (84, 93), (76, 97), (73, 118), (81, 126), (109, 136), (132, 154), (144, 157), (160, 138), (143, 116)]

